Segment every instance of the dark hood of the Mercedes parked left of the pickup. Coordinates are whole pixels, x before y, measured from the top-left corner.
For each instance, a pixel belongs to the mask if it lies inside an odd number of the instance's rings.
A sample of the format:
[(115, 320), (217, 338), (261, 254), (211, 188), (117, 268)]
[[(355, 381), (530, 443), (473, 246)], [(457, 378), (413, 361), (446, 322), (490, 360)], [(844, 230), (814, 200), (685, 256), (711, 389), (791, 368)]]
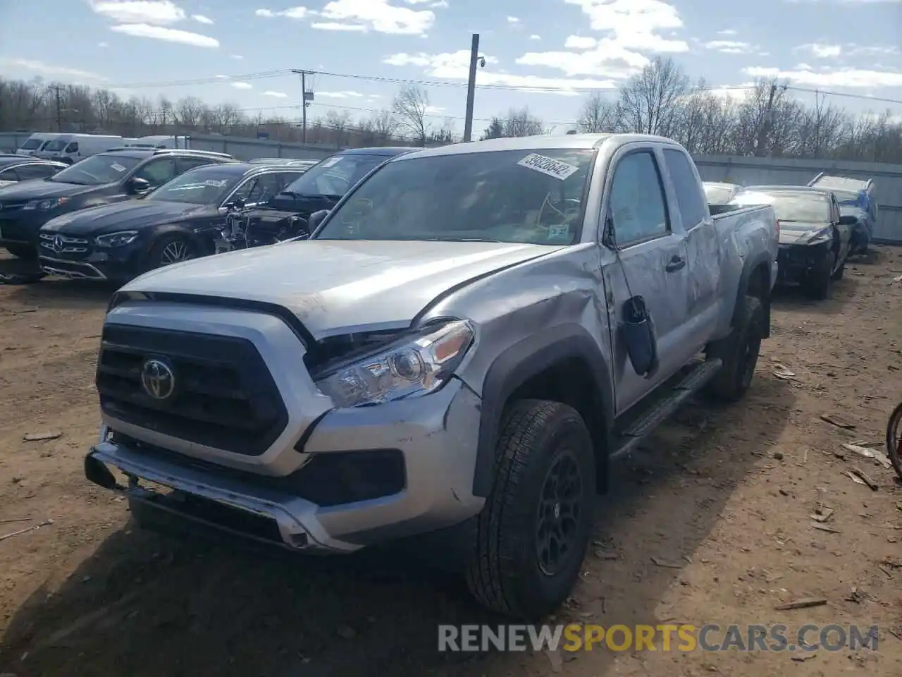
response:
[(176, 223), (186, 218), (214, 216), (215, 207), (181, 202), (128, 200), (73, 211), (53, 218), (41, 230), (59, 230), (69, 235), (102, 235), (120, 230)]

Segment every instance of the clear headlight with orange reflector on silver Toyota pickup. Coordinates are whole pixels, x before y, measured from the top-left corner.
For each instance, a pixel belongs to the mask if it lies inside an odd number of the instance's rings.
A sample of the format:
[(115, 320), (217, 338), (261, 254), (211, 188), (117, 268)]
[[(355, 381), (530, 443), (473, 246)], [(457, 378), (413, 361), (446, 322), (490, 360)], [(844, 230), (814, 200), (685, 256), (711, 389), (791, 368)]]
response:
[(337, 366), (317, 387), (343, 409), (433, 393), (447, 383), (473, 340), (469, 322), (428, 327), (419, 337)]

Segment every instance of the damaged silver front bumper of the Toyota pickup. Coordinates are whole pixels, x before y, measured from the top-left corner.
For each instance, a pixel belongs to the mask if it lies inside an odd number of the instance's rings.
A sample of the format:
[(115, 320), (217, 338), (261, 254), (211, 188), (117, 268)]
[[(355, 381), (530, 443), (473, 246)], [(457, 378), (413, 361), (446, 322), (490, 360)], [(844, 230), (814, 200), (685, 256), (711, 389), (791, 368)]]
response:
[[(321, 505), (286, 487), (284, 478), (265, 478), (217, 467), (177, 453), (112, 441), (102, 434), (85, 460), (96, 484), (138, 501), (158, 501), (170, 515), (234, 535), (277, 543), (290, 550), (353, 552), (366, 545), (459, 524), (478, 513), (484, 499), (473, 496), (479, 429), (479, 398), (456, 379), (437, 393), (415, 400), (326, 413), (285, 454), (306, 461), (292, 475), (313, 472), (318, 457), (367, 450), (395, 450), (403, 458), (403, 484), (390, 496)], [(114, 438), (115, 439), (115, 438)], [(299, 451), (297, 450), (299, 449)], [(111, 468), (129, 478), (115, 485)], [(190, 508), (142, 482), (169, 487), (219, 508)], [(252, 519), (253, 524), (248, 520)]]

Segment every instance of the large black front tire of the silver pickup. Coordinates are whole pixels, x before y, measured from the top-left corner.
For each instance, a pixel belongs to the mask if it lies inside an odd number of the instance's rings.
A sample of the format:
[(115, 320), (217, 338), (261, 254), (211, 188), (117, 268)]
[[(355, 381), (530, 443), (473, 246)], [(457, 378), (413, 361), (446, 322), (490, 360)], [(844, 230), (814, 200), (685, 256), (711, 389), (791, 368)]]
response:
[[(476, 518), (476, 543), (466, 565), (466, 582), (484, 607), (534, 620), (564, 602), (583, 565), (595, 498), (592, 439), (572, 407), (520, 400), (502, 416), (495, 454), (494, 486)], [(562, 561), (552, 566), (539, 562), (539, 510), (543, 493), (551, 489), (552, 470), (562, 469), (569, 470), (579, 492), (567, 501), (569, 508), (557, 498), (546, 504), (546, 515), (552, 515), (558, 526), (566, 524), (570, 536)], [(562, 515), (573, 515), (573, 519), (562, 519)]]

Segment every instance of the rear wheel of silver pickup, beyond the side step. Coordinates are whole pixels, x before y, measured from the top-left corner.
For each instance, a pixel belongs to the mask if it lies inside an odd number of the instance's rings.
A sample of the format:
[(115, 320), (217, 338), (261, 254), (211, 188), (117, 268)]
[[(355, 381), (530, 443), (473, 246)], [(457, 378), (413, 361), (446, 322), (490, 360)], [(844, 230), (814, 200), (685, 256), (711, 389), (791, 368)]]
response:
[(719, 358), (723, 367), (708, 383), (707, 394), (719, 400), (737, 402), (749, 391), (764, 337), (764, 306), (754, 296), (746, 296), (741, 317), (727, 338), (708, 346), (708, 359)]

